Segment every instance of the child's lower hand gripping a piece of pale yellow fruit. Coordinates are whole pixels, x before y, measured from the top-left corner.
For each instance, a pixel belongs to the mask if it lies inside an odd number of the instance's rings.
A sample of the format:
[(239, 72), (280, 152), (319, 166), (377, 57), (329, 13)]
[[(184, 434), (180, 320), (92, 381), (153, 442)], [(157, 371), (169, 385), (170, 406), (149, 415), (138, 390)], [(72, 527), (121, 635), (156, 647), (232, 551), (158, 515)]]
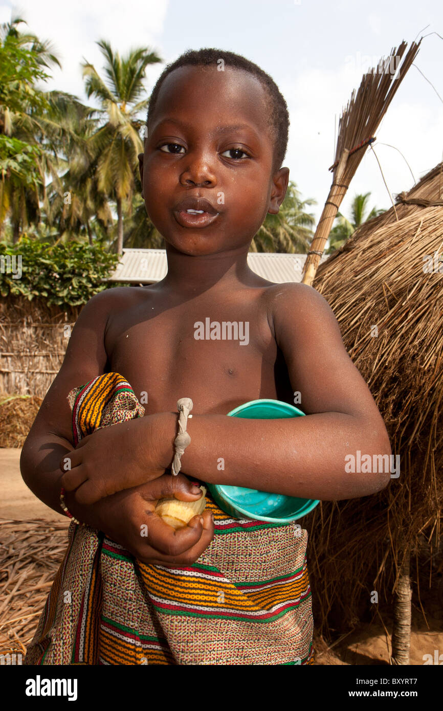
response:
[[(114, 493), (93, 508), (100, 518), (101, 530), (140, 562), (146, 565), (192, 565), (213, 540), (210, 509), (201, 514), (203, 525), (200, 516), (196, 515), (178, 530), (154, 513), (159, 498), (175, 496), (179, 501), (198, 501), (199, 495), (191, 493), (191, 486), (184, 474), (164, 474), (142, 486)], [(71, 512), (87, 523), (85, 509), (76, 507), (68, 497), (67, 503)], [(145, 533), (147, 536), (142, 535)]]

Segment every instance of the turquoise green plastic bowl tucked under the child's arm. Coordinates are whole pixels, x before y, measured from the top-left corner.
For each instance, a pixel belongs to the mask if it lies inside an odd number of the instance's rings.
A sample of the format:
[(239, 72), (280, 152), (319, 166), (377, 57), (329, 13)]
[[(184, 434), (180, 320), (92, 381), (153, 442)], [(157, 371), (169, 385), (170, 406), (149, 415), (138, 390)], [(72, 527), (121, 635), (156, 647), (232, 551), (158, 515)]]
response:
[[(230, 417), (245, 419), (279, 419), (304, 417), (304, 412), (279, 400), (251, 400), (228, 412)], [(267, 493), (242, 486), (206, 483), (215, 503), (233, 518), (250, 518), (269, 523), (291, 523), (309, 513), (318, 499), (296, 498), (279, 493)]]

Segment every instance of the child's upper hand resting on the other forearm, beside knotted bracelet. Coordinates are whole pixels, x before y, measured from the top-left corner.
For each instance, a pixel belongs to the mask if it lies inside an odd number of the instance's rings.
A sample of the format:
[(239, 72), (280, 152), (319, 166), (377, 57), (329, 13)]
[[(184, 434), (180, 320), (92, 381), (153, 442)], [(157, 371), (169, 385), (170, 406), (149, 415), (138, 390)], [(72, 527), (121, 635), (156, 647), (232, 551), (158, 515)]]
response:
[(60, 460), (65, 490), (76, 490), (78, 503), (92, 504), (162, 476), (165, 466), (156, 447), (155, 418), (150, 415), (112, 424), (84, 437)]

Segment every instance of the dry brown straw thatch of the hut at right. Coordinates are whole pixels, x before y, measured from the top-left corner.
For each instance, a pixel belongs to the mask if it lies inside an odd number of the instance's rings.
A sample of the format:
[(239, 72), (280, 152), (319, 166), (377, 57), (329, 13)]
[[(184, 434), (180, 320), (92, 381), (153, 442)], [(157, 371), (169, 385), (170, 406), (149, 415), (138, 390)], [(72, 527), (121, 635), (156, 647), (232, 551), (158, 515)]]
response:
[[(383, 491), (314, 510), (314, 618), (326, 636), (331, 626), (350, 629), (362, 610), (376, 614), (370, 591), (390, 602), (402, 563), (409, 552), (417, 554), (420, 534), (431, 551), (441, 547), (443, 274), (424, 272), (424, 258), (442, 253), (442, 201), (439, 164), (397, 196), (395, 209), (356, 230), (321, 264), (314, 282), (373, 393), (393, 454), (400, 455), (400, 478)], [(432, 567), (429, 573), (432, 584)]]

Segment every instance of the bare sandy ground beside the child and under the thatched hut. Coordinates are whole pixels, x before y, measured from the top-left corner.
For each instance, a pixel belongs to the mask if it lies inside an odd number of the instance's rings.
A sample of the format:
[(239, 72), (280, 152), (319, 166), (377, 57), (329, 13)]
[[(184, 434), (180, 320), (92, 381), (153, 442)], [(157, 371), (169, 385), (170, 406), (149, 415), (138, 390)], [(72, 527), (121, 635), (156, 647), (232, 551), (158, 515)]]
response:
[[(41, 502), (23, 482), (20, 474), (20, 449), (0, 449), (0, 518), (48, 521), (69, 520), (58, 515)], [(437, 584), (437, 582), (436, 582)], [(423, 656), (435, 651), (443, 655), (443, 609), (438, 602), (434, 589), (422, 592), (422, 605), (427, 616), (427, 623), (420, 607), (412, 604), (412, 633), (410, 663), (422, 665)], [(390, 631), (392, 621), (383, 619), (374, 621), (356, 629), (346, 638), (329, 648), (323, 640), (314, 639), (316, 664), (318, 665), (386, 665), (389, 664)], [(443, 656), (440, 661), (443, 664)]]

